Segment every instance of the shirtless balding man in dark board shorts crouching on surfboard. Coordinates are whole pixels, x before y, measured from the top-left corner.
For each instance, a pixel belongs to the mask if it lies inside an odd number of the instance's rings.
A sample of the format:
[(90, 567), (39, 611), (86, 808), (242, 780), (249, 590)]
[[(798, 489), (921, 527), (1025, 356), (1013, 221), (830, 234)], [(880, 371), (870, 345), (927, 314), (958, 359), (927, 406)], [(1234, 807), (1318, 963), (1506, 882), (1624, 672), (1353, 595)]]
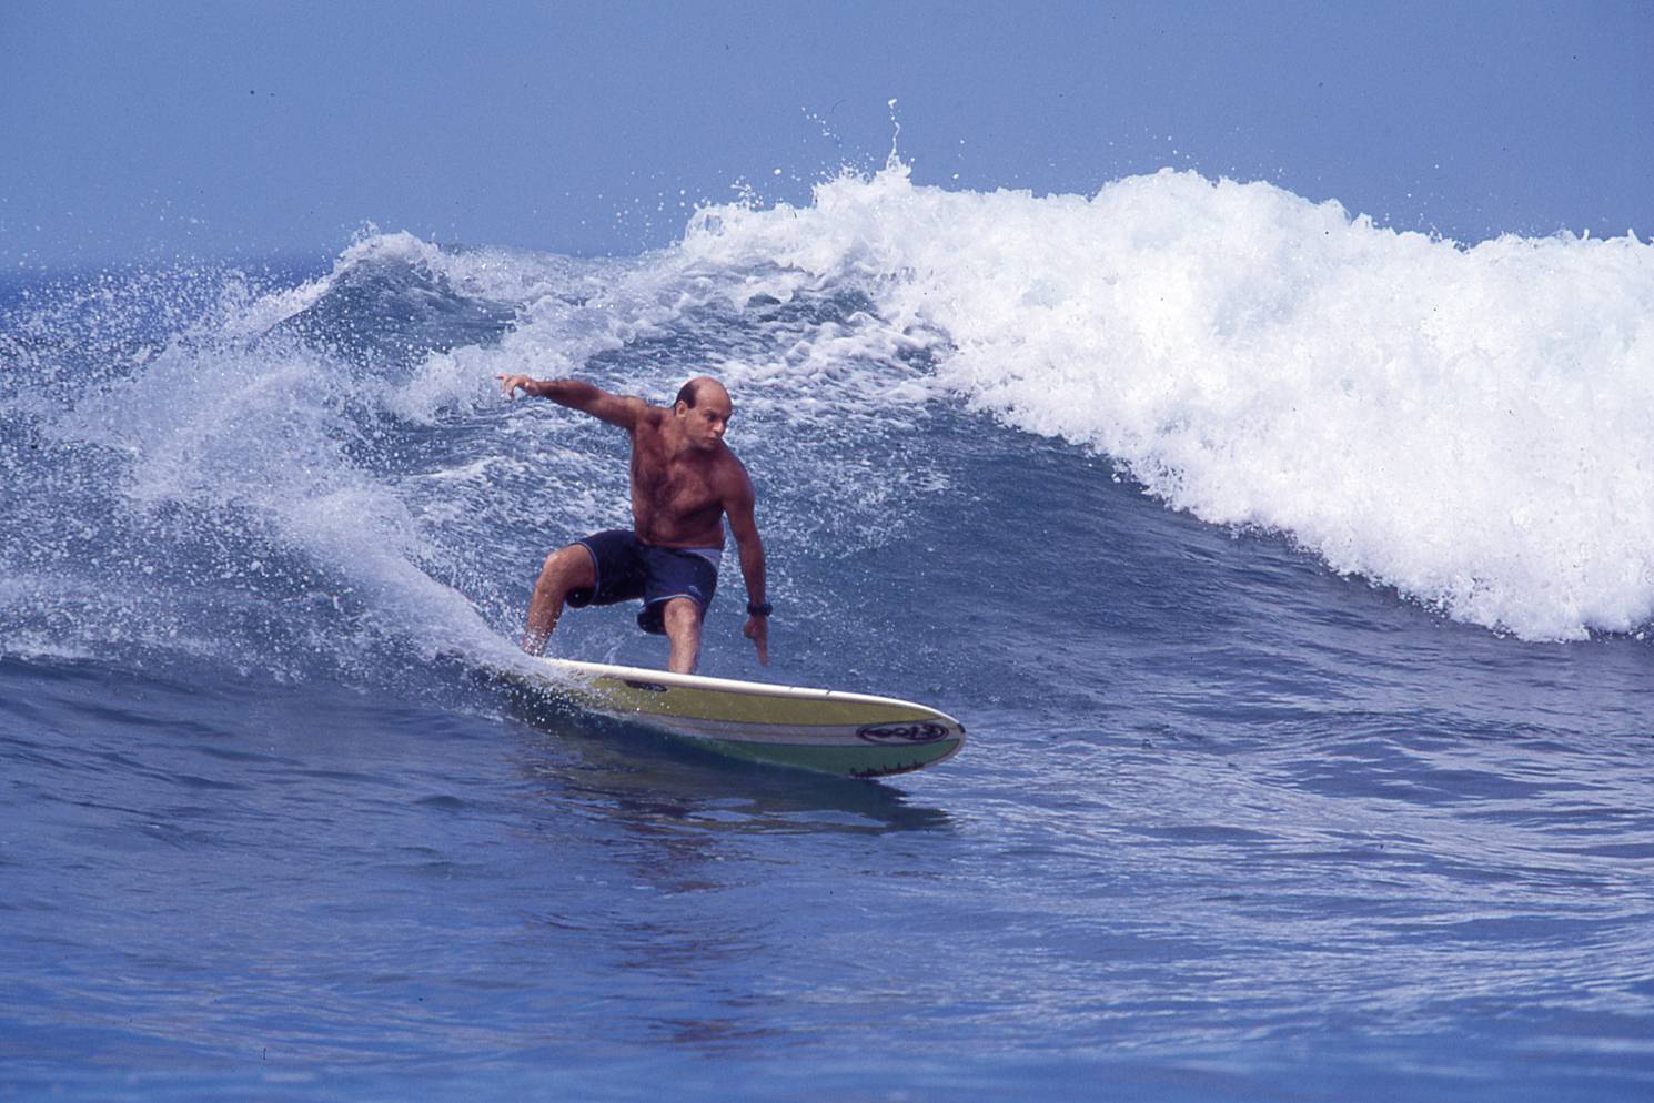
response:
[(734, 408), (716, 379), (683, 384), (672, 408), (612, 395), (576, 379), (496, 375), (508, 399), (551, 399), (619, 425), (632, 438), (632, 529), (595, 532), (546, 556), (528, 605), (523, 650), (541, 655), (562, 605), (612, 605), (642, 597), (637, 623), (672, 642), (667, 668), (693, 673), (701, 653), (701, 620), (718, 585), (723, 518), (729, 518), (746, 580), (741, 635), (769, 663), (769, 602), (764, 600), (764, 542), (753, 519), (753, 480), (723, 443)]

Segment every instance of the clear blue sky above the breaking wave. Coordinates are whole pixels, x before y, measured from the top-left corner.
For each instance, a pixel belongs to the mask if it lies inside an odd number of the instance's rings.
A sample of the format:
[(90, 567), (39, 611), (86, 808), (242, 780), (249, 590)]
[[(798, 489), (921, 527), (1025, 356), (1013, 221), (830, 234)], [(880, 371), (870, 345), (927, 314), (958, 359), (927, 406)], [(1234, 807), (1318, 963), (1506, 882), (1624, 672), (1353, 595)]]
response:
[(921, 184), (1176, 165), (1460, 240), (1647, 238), (1651, 58), (1654, 3), (1589, 0), (5, 0), (0, 273), (326, 256), (369, 220), (633, 253), (680, 192), (882, 162), (888, 99)]

